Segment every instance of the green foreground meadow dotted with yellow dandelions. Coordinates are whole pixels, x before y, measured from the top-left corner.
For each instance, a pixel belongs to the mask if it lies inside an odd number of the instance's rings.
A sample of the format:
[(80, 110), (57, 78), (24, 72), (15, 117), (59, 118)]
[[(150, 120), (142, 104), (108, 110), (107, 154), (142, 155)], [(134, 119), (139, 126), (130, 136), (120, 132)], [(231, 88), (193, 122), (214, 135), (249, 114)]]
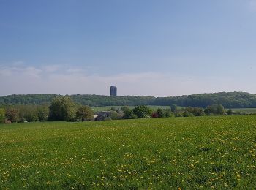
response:
[(256, 116), (0, 125), (0, 189), (255, 189)]

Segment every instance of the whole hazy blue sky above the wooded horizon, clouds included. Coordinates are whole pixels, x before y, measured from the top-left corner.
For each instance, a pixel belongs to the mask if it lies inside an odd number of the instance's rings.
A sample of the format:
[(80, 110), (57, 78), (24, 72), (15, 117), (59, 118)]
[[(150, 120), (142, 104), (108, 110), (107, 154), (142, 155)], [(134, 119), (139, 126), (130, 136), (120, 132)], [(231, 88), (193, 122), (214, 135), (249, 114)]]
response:
[(0, 0), (0, 95), (256, 93), (256, 0)]

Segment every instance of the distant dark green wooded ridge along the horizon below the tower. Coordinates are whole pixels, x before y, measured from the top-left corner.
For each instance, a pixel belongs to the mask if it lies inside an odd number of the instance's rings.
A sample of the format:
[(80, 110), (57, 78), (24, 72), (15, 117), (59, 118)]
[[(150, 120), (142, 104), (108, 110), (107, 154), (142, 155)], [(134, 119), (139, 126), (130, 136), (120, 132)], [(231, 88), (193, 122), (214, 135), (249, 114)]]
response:
[[(50, 104), (56, 94), (28, 94), (1, 96), (0, 105), (16, 104)], [(170, 105), (181, 107), (207, 107), (211, 104), (222, 104), (226, 108), (256, 107), (256, 94), (245, 92), (220, 92), (213, 94), (194, 94), (188, 96), (158, 97), (153, 96), (101, 96), (101, 95), (71, 95), (70, 98), (83, 105), (91, 107), (115, 105)]]

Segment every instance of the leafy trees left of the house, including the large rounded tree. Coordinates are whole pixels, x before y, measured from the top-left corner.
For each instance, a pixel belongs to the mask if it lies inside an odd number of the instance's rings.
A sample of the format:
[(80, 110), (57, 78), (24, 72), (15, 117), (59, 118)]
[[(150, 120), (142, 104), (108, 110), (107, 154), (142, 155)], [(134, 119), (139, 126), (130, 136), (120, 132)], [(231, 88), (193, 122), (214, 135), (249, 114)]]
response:
[(48, 104), (3, 106), (0, 108), (0, 123), (92, 121), (93, 115), (91, 107), (75, 104), (69, 96), (57, 96), (50, 106)]

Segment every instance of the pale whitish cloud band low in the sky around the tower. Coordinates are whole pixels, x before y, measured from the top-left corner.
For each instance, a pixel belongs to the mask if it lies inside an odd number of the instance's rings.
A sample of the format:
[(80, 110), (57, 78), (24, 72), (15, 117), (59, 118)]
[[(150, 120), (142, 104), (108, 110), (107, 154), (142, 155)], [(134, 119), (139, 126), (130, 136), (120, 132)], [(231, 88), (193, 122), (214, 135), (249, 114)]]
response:
[[(176, 96), (217, 91), (250, 91), (255, 83), (231, 77), (174, 75), (171, 72), (122, 73), (118, 75), (88, 74), (89, 70), (72, 66), (2, 66), (0, 95), (7, 94), (109, 94), (111, 85), (118, 95)], [(250, 81), (254, 81), (252, 77)]]

